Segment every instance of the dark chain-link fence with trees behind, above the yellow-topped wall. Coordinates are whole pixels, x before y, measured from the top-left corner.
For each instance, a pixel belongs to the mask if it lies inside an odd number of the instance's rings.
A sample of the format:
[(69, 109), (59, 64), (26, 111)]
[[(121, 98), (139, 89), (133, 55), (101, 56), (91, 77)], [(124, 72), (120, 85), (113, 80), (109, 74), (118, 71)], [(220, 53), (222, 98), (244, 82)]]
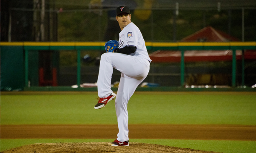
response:
[[(207, 26), (240, 41), (256, 40), (253, 0), (124, 0), (122, 3), (131, 6), (132, 22), (140, 28), (145, 41), (176, 42)], [(118, 39), (120, 30), (115, 9), (119, 4), (119, 0), (101, 3), (99, 0), (10, 0), (9, 7), (2, 8), (1, 41)]]

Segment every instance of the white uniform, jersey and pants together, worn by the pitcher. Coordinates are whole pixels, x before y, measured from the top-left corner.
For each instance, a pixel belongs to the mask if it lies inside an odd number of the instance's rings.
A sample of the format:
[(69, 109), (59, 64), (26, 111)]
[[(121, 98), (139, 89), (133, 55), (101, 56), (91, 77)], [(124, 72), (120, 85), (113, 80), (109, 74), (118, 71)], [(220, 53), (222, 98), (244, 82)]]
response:
[(129, 55), (121, 53), (102, 54), (97, 82), (98, 96), (100, 98), (107, 97), (113, 92), (111, 90), (113, 68), (122, 73), (115, 101), (119, 129), (117, 140), (120, 142), (129, 140), (127, 104), (138, 85), (147, 77), (151, 61), (140, 29), (132, 22), (119, 33), (119, 48), (126, 45), (136, 46), (135, 53)]

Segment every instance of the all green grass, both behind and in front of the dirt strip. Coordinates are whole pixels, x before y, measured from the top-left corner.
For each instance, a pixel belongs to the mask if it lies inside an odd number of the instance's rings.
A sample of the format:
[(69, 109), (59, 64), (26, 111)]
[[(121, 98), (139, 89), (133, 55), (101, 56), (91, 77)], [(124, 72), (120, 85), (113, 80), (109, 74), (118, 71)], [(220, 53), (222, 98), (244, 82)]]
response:
[[(114, 101), (95, 110), (96, 92), (1, 94), (1, 124), (117, 124)], [(255, 92), (136, 92), (128, 103), (129, 124), (256, 125)], [(168, 117), (166, 117), (168, 116)], [(106, 142), (106, 139), (1, 139), (1, 150), (32, 143)], [(224, 153), (256, 153), (256, 142), (153, 140), (155, 143)]]

